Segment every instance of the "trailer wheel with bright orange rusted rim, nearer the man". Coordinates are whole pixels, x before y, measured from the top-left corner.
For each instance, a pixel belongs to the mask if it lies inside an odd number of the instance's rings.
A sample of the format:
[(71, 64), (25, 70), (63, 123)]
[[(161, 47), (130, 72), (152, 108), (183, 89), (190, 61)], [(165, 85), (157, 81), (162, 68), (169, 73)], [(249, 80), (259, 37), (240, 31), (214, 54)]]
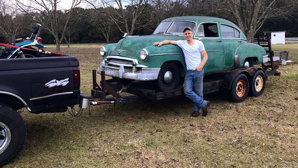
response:
[(248, 94), (249, 83), (246, 75), (240, 73), (237, 75), (232, 83), (231, 88), (231, 101), (242, 102)]

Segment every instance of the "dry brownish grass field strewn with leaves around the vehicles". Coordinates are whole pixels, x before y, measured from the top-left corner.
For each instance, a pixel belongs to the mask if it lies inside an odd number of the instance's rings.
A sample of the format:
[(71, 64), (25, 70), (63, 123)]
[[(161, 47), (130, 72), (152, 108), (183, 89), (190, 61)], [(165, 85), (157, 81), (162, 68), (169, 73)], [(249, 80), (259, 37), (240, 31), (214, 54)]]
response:
[[(81, 91), (90, 94), (100, 46), (71, 47), (61, 53), (79, 59)], [(272, 47), (298, 61), (297, 44)], [(4, 167), (298, 167), (298, 64), (278, 70), (259, 97), (231, 103), (221, 92), (204, 95), (206, 117), (190, 117), (185, 96), (94, 106), (80, 117), (20, 110), (27, 141)]]

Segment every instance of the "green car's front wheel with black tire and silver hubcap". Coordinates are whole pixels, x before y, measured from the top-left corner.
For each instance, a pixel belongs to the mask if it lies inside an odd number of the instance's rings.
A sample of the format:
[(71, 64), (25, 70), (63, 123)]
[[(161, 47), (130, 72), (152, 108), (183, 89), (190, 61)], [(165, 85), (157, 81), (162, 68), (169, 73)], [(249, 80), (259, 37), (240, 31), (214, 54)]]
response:
[(173, 62), (166, 62), (160, 68), (157, 87), (160, 91), (176, 89), (179, 84), (179, 67)]

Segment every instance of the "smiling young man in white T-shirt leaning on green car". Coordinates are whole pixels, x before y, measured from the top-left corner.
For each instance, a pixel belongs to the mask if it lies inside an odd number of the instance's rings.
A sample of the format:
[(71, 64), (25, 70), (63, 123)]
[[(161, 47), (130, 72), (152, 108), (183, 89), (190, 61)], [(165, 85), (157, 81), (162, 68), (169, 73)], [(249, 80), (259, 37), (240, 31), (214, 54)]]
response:
[[(194, 102), (192, 116), (198, 117), (200, 108), (203, 109), (202, 116), (206, 116), (210, 105), (209, 101), (203, 99), (203, 67), (208, 59), (207, 52), (202, 41), (193, 39), (193, 30), (190, 27), (184, 28), (183, 35), (185, 40), (164, 40), (155, 42), (153, 46), (175, 44), (183, 50), (187, 69), (184, 79), (184, 93)], [(201, 59), (201, 56), (203, 56), (203, 59)], [(195, 86), (195, 92), (193, 86)]]

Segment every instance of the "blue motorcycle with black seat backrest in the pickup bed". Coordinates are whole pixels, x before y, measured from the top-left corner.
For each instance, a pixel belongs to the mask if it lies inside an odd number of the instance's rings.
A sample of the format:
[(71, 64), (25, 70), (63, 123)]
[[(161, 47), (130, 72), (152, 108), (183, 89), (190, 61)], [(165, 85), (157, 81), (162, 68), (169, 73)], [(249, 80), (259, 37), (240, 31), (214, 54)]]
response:
[(0, 58), (36, 58), (41, 57), (46, 46), (42, 44), (42, 38), (38, 37), (41, 32), (41, 24), (35, 23), (31, 27), (31, 37), (26, 39), (17, 38), (9, 44), (1, 44)]

